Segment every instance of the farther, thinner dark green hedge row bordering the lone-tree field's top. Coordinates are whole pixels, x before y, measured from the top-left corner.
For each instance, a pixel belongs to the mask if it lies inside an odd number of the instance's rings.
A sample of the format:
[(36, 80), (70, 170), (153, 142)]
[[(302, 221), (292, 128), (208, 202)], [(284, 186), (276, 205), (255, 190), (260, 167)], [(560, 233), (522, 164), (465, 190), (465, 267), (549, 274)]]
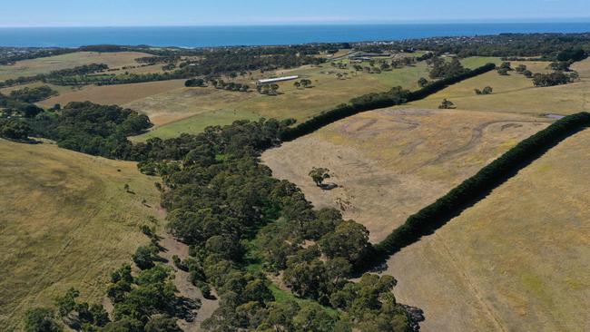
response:
[(352, 99), (350, 103), (339, 105), (337, 108), (328, 112), (322, 112), (306, 122), (301, 122), (295, 127), (286, 128), (280, 133), (280, 140), (283, 142), (292, 141), (301, 136), (315, 132), (318, 129), (328, 125), (332, 122), (337, 122), (351, 115), (359, 112), (366, 112), (376, 110), (379, 108), (391, 107), (401, 103), (408, 103), (418, 101), (428, 97), (433, 93), (446, 88), (450, 84), (458, 83), (471, 77), (475, 77), (482, 73), (487, 73), (496, 68), (494, 63), (487, 63), (474, 70), (461, 73), (457, 76), (448, 77), (439, 81), (429, 83), (425, 87), (410, 93), (408, 90), (403, 90), (396, 87), (387, 93), (369, 93), (358, 98)]

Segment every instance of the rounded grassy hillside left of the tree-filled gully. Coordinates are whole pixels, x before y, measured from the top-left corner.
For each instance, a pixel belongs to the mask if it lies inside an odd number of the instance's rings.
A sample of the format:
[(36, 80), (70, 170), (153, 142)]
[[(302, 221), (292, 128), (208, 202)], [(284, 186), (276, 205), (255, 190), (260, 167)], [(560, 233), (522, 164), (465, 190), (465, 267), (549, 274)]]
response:
[(111, 271), (147, 240), (138, 225), (160, 215), (157, 179), (48, 143), (0, 140), (0, 155), (0, 326), (19, 330), (27, 308), (70, 287), (101, 301)]

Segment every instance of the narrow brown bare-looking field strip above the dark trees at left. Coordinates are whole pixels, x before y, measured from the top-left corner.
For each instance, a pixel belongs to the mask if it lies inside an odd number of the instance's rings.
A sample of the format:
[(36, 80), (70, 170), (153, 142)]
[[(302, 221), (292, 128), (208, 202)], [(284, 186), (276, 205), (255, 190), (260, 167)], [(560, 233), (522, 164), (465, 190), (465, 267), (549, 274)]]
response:
[[(184, 86), (183, 80), (133, 83), (120, 85), (86, 85), (82, 88), (66, 88), (59, 95), (42, 101), (44, 107), (55, 103), (85, 102), (123, 105), (158, 93), (165, 93)], [(141, 111), (141, 110), (138, 110)]]

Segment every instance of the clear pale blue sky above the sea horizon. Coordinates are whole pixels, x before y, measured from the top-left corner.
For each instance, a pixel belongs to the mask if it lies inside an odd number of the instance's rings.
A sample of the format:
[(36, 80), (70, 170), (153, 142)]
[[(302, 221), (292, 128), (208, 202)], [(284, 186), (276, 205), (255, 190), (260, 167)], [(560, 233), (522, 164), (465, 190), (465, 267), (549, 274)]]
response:
[(590, 0), (3, 0), (0, 26), (590, 21)]

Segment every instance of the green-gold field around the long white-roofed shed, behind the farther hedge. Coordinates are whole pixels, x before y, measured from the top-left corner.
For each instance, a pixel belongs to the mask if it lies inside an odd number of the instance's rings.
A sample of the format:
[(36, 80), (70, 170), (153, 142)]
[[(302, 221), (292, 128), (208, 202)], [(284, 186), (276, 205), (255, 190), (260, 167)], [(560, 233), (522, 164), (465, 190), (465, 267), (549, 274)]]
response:
[[(148, 96), (133, 103), (126, 103), (125, 106), (148, 114), (152, 122), (162, 125), (160, 128), (166, 136), (182, 133), (174, 132), (175, 130), (190, 130), (191, 126), (183, 125), (179, 121), (187, 119), (188, 122), (194, 122), (196, 117), (206, 112), (254, 113), (267, 118), (295, 118), (298, 121), (304, 121), (361, 94), (383, 92), (397, 85), (414, 89), (417, 87), (418, 78), (425, 75), (426, 70), (426, 65), (420, 63), (416, 67), (406, 67), (380, 74), (355, 73), (355, 76), (349, 74), (349, 79), (342, 80), (336, 76), (336, 73), (350, 73), (350, 71), (339, 70), (329, 64), (321, 67), (302, 66), (277, 73), (267, 73), (265, 76), (298, 74), (309, 78), (313, 82), (313, 88), (296, 89), (292, 81), (279, 83), (280, 94), (277, 96), (261, 95), (256, 92), (228, 92), (212, 87), (182, 88)], [(248, 83), (253, 87), (254, 78), (261, 77), (239, 77), (233, 80), (226, 79), (226, 81)], [(172, 127), (165, 128), (167, 123), (171, 123)], [(160, 128), (155, 128), (152, 135), (157, 135)], [(202, 130), (200, 126), (195, 128)]]

